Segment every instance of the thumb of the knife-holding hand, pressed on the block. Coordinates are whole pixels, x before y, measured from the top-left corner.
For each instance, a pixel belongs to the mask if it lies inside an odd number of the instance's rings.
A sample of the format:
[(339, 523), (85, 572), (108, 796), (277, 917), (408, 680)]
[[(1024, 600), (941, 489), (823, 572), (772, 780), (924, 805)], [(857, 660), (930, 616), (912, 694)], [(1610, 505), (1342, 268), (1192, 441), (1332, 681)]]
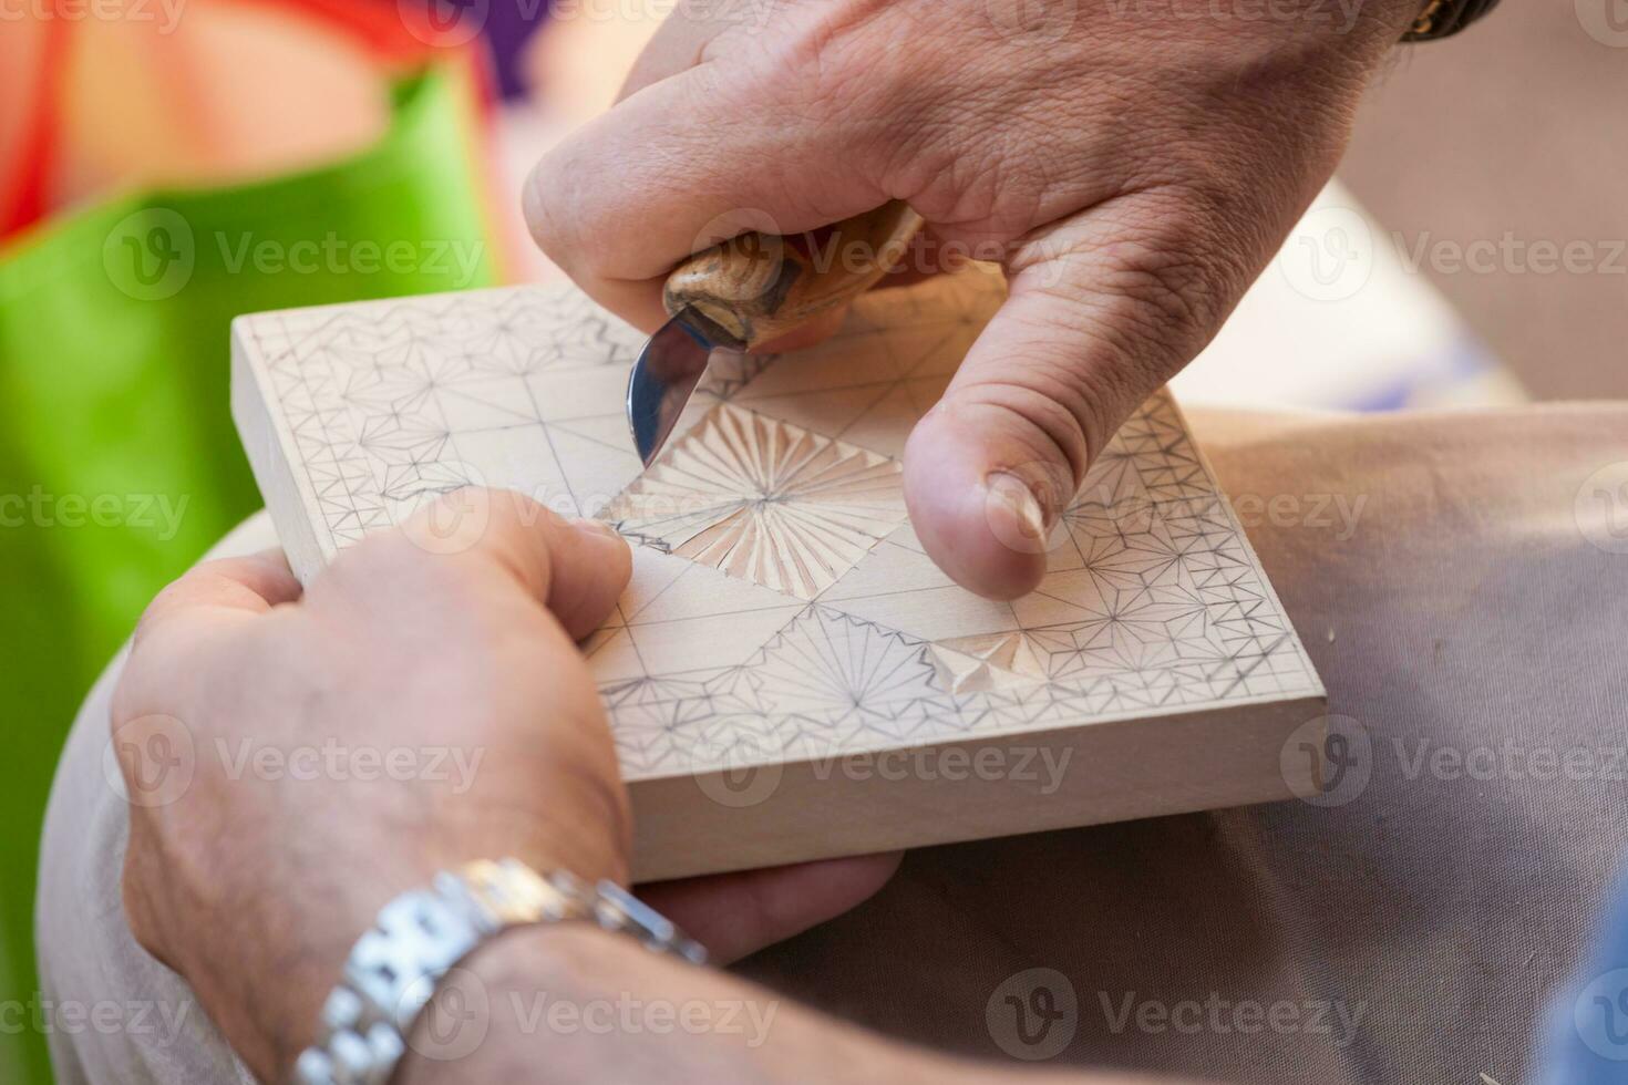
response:
[(1154, 208), (1099, 205), (1027, 239), (1008, 262), (1006, 303), (910, 434), (910, 521), (938, 566), (980, 595), (1016, 599), (1040, 582), (1092, 459), (1242, 291), (1188, 255), (1218, 251), (1213, 239), (1203, 247)]

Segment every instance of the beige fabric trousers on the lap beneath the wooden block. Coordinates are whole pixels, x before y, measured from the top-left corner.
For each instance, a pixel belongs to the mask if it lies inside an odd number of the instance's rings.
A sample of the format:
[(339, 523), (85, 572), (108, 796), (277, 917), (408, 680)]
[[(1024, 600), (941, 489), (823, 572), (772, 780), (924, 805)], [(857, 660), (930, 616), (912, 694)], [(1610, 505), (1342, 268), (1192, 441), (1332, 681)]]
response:
[[(1628, 848), (1628, 553), (1612, 551), (1628, 538), (1608, 534), (1628, 490), (1584, 488), (1628, 460), (1628, 407), (1195, 428), (1332, 711), (1361, 724), (1366, 786), (1343, 784), (1343, 805), (915, 852), (871, 903), (742, 971), (974, 1056), (1061, 1046), (1053, 1065), (1252, 1085), (1529, 1080), (1538, 1017)], [(267, 538), (257, 519), (223, 548)], [(52, 795), (47, 994), (184, 1004), (120, 919), (106, 690)], [(1066, 984), (1042, 997), (1034, 968)], [(1008, 994), (1061, 1013), (1035, 1046)], [(57, 1035), (62, 1082), (241, 1075), (202, 1013), (156, 1039)]]

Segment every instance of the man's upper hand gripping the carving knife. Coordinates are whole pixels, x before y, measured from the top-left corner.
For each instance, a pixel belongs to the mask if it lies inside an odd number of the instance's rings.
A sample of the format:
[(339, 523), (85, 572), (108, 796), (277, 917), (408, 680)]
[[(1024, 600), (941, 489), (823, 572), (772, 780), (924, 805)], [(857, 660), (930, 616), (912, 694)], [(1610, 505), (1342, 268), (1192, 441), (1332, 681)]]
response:
[(993, 597), (1130, 412), (1219, 329), (1333, 171), (1418, 0), (694, 0), (526, 213), (653, 330), (661, 281), (746, 229), (904, 198), (915, 267), (1011, 294), (905, 451), (928, 553)]

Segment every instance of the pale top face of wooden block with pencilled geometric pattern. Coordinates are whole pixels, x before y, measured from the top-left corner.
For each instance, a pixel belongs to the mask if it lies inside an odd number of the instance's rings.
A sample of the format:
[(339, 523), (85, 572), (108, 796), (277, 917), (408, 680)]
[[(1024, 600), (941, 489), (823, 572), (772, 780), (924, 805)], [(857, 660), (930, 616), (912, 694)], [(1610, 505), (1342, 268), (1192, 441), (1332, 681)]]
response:
[(904, 441), (1001, 296), (941, 277), (863, 298), (796, 358), (715, 363), (650, 470), (622, 412), (643, 337), (570, 288), (260, 314), (239, 335), (326, 555), (466, 483), (635, 543), (584, 643), (630, 779), (1320, 695), (1166, 392), (1097, 455), (1035, 592), (995, 604), (933, 566)]

